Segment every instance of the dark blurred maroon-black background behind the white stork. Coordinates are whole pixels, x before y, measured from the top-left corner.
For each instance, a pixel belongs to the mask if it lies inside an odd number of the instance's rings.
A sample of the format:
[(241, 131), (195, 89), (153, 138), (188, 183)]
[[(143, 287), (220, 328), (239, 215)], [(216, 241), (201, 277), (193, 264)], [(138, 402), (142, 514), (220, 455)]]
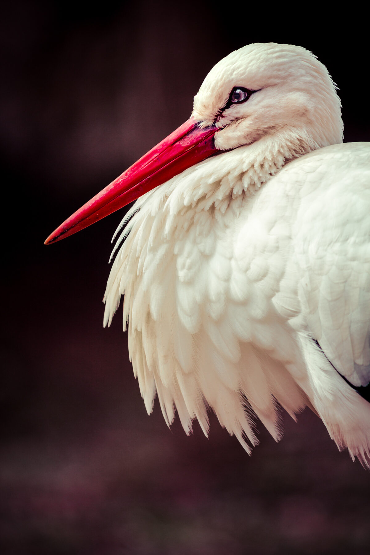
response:
[[(95, 6), (95, 7), (94, 7)], [(190, 115), (221, 57), (250, 42), (310, 49), (340, 89), (345, 140), (369, 140), (361, 15), (271, 7), (13, 0), (1, 14), (3, 555), (370, 552), (370, 473), (321, 421), (259, 426), (248, 457), (211, 416), (186, 437), (146, 415), (121, 311), (103, 329), (122, 213), (47, 235)], [(302, 10), (307, 13), (302, 14)], [(367, 18), (366, 18), (367, 19)]]

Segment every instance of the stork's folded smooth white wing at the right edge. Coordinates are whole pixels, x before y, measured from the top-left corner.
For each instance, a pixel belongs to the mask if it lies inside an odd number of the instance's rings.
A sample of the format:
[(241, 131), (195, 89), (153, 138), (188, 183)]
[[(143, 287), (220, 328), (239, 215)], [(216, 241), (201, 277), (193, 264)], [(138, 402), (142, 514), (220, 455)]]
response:
[(370, 160), (356, 157), (353, 171), (348, 158), (332, 162), (320, 161), (325, 180), (298, 210), (293, 230), (298, 295), (311, 334), (332, 365), (352, 385), (365, 386), (370, 382)]

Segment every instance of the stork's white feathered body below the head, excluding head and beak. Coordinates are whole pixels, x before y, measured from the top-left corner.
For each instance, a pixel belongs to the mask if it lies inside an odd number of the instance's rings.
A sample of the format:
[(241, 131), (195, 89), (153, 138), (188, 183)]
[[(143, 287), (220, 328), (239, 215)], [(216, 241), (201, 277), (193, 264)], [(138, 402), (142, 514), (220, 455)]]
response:
[[(234, 171), (249, 154), (224, 156), (238, 159)], [(312, 405), (339, 446), (368, 452), (370, 404), (338, 372), (356, 386), (369, 380), (369, 162), (367, 143), (333, 145), (257, 189), (243, 185), (248, 172), (225, 174), (222, 195), (219, 176), (209, 181), (216, 163), (224, 168), (220, 156), (136, 202), (111, 269), (106, 322), (125, 294), (149, 413), (157, 392), (169, 425), (176, 408), (187, 433), (193, 418), (207, 433), (210, 406), (249, 451), (246, 405), (278, 439), (275, 398), (292, 416)]]

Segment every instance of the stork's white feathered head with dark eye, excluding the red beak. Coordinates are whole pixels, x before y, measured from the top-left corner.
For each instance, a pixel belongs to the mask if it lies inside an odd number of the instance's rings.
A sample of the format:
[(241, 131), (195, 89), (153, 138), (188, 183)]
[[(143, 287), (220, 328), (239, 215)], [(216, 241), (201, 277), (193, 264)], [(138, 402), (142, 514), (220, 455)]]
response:
[(194, 97), (192, 116), (219, 129), (219, 150), (286, 133), (306, 152), (343, 140), (341, 102), (325, 65), (290, 44), (248, 44), (220, 60)]

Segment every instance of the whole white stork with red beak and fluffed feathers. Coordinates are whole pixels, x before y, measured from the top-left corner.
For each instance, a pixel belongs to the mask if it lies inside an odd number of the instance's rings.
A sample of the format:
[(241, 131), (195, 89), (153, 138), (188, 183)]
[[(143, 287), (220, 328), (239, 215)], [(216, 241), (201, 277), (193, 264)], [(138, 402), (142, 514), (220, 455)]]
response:
[[(306, 49), (250, 44), (222, 59), (191, 118), (64, 222), (62, 239), (136, 200), (105, 292), (124, 295), (146, 410), (186, 433), (207, 408), (245, 450), (254, 413), (308, 406), (370, 465), (370, 148), (341, 144), (341, 104)], [(159, 186), (160, 185), (160, 186)], [(145, 193), (145, 194), (144, 194)], [(143, 196), (141, 196), (143, 195)], [(139, 198), (140, 196), (140, 198)]]

